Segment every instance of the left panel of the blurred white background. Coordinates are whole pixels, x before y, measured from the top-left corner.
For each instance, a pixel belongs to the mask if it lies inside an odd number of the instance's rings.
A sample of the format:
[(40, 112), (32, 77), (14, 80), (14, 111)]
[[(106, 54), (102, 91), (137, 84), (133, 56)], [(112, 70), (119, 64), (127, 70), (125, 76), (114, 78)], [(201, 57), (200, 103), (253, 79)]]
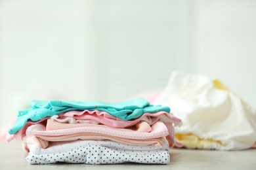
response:
[(32, 99), (88, 99), (84, 1), (1, 1), (1, 124)]

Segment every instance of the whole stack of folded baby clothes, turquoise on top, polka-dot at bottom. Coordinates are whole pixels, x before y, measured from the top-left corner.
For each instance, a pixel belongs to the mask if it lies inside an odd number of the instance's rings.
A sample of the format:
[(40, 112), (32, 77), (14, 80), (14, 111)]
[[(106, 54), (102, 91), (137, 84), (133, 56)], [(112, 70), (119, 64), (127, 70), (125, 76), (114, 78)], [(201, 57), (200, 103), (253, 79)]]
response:
[(20, 110), (7, 141), (21, 139), (30, 164), (169, 163), (181, 126), (169, 107), (142, 98), (120, 103), (32, 101)]

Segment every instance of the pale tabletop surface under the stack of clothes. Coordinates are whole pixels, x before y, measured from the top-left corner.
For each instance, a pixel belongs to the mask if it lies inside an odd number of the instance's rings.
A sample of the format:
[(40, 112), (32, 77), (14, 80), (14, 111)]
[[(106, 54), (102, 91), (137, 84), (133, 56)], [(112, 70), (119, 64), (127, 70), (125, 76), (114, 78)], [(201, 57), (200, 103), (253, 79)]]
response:
[(51, 165), (30, 165), (27, 152), (20, 141), (0, 142), (0, 169), (256, 169), (256, 149), (241, 151), (171, 149), (168, 165), (144, 165), (124, 163), (114, 165), (86, 165), (58, 163)]

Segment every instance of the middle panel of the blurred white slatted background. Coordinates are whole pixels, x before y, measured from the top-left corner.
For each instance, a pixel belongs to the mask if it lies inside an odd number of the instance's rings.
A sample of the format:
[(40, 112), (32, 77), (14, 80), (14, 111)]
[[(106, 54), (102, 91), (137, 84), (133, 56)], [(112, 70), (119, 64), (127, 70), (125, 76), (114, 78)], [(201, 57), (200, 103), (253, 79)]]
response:
[(171, 71), (190, 71), (188, 1), (102, 0), (94, 8), (96, 99), (156, 90)]

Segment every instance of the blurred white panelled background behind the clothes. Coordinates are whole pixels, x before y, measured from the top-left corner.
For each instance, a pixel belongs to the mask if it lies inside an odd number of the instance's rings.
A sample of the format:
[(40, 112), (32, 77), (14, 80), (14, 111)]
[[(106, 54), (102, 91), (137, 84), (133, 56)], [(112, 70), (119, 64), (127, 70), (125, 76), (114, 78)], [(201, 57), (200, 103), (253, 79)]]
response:
[(0, 0), (0, 126), (32, 99), (117, 102), (171, 71), (256, 107), (256, 1)]

